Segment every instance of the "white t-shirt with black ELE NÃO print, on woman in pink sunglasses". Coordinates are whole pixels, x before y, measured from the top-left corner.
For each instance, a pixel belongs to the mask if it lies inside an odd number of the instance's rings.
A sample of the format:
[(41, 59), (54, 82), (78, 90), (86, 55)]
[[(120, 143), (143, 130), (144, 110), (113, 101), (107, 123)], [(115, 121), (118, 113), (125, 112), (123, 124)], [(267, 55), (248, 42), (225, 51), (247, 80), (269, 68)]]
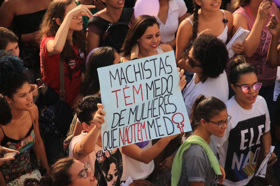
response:
[(254, 176), (261, 138), (270, 130), (268, 108), (261, 96), (257, 96), (250, 110), (243, 109), (235, 96), (226, 102), (226, 107), (232, 118), (224, 136), (215, 136), (220, 150), (219, 163), (226, 171), (223, 184), (246, 185)]

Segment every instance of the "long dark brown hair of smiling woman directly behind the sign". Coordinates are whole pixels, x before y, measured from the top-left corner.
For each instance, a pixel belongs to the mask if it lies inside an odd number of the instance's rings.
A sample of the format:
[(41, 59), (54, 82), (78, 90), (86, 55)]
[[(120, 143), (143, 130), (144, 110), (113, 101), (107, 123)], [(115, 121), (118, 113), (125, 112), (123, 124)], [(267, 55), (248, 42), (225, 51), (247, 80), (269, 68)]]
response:
[(124, 39), (124, 44), (121, 48), (121, 56), (127, 56), (130, 54), (130, 50), (133, 45), (137, 42), (145, 33), (148, 26), (158, 25), (156, 18), (150, 15), (139, 15), (133, 22), (128, 30), (128, 33)]

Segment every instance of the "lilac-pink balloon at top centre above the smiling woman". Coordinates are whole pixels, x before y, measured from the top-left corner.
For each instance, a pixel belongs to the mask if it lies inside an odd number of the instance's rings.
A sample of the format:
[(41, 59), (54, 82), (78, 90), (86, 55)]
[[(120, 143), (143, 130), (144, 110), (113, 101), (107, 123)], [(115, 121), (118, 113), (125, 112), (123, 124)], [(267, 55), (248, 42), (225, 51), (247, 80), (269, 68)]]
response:
[(134, 15), (151, 15), (159, 14), (159, 0), (137, 0), (134, 7)]

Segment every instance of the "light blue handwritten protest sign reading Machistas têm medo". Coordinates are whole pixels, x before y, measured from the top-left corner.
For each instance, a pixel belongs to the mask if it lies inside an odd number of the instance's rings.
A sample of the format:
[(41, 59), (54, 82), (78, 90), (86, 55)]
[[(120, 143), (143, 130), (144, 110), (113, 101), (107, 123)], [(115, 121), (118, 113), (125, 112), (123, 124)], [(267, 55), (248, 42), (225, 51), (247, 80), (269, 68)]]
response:
[(173, 51), (97, 71), (103, 151), (191, 130)]

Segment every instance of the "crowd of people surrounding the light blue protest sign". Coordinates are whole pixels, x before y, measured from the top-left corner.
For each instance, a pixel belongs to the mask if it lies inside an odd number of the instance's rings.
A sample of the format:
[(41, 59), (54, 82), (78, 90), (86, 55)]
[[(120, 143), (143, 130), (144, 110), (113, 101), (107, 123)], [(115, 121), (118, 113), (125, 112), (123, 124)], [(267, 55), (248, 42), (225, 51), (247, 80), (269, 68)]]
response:
[[(2, 2), (0, 185), (279, 185), (275, 3), (159, 0), (135, 17), (135, 2)], [(192, 131), (103, 152), (97, 69), (169, 51)]]

